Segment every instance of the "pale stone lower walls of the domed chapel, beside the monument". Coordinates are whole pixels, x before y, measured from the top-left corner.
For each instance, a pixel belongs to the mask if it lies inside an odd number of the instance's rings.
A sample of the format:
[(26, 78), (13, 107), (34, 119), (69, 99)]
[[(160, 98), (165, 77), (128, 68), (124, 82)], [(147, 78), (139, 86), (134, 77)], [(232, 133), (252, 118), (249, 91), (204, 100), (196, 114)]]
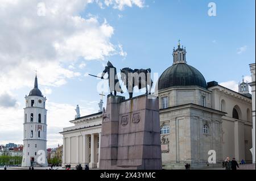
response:
[[(208, 151), (215, 150), (217, 162), (222, 158), (221, 115), (195, 108), (177, 108), (160, 111), (160, 125), (170, 125), (168, 152), (162, 153), (165, 169), (184, 169), (191, 163), (193, 169), (207, 167)], [(210, 133), (203, 133), (205, 121)], [(163, 134), (161, 136), (164, 136)]]

